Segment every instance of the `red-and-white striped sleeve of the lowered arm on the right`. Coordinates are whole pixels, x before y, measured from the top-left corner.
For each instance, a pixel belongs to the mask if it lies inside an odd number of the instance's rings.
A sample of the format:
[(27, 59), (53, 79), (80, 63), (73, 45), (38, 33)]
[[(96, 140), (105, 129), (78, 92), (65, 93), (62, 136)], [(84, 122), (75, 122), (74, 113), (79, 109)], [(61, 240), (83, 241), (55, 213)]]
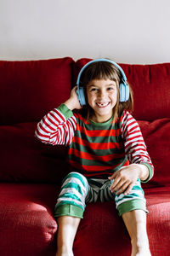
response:
[(127, 159), (130, 163), (144, 164), (148, 167), (150, 175), (147, 180), (144, 181), (147, 182), (153, 176), (154, 166), (147, 152), (139, 124), (128, 112), (124, 112), (122, 117), (122, 137)]

